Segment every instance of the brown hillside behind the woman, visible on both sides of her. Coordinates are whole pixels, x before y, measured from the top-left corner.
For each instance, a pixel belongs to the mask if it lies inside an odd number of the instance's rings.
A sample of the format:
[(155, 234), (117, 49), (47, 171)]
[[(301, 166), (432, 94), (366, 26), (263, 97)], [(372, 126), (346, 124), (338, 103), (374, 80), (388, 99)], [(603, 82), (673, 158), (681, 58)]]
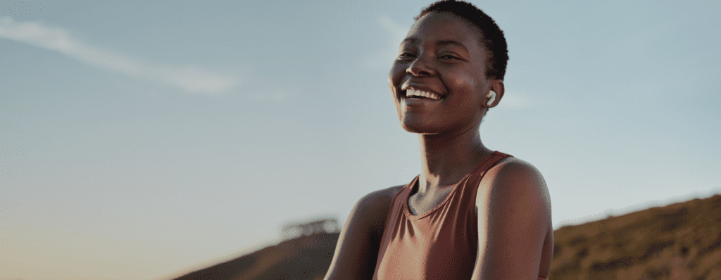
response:
[[(549, 279), (721, 279), (721, 195), (554, 231)], [(337, 233), (287, 240), (177, 280), (322, 279)]]

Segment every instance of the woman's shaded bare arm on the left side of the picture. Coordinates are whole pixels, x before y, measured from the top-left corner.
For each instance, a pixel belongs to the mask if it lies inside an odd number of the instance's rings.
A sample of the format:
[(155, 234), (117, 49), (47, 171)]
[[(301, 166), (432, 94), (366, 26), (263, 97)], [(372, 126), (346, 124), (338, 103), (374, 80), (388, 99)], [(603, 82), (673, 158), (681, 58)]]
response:
[(391, 201), (402, 186), (373, 191), (348, 215), (325, 280), (371, 279)]

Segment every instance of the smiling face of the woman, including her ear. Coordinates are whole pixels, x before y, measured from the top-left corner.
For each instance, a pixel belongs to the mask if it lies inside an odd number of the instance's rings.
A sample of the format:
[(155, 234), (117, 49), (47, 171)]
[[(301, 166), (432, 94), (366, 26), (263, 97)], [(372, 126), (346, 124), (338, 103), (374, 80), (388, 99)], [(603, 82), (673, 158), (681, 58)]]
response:
[[(413, 24), (389, 73), (404, 130), (423, 134), (477, 130), (487, 108), (486, 94), (493, 83), (503, 87), (503, 81), (485, 75), (488, 57), (479, 36), (452, 14), (432, 12)], [(430, 98), (407, 96), (418, 91), (430, 93), (425, 94)]]

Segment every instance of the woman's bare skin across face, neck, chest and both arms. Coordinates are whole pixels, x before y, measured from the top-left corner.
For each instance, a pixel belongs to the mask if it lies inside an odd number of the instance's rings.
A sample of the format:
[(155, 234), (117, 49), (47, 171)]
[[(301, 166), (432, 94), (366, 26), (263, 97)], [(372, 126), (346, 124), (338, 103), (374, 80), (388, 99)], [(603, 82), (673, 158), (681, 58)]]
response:
[[(389, 73), (404, 130), (417, 133), (422, 170), (408, 199), (412, 214), (443, 202), (467, 173), (492, 153), (479, 135), (487, 109), (503, 99), (503, 81), (486, 75), (480, 32), (453, 14), (431, 12), (415, 22)], [(412, 99), (409, 89), (440, 97)], [(487, 94), (495, 91), (495, 101)], [(402, 186), (374, 191), (353, 208), (325, 279), (371, 279), (386, 215)], [(551, 204), (530, 163), (505, 158), (479, 184), (478, 252), (474, 280), (547, 278), (553, 256)]]

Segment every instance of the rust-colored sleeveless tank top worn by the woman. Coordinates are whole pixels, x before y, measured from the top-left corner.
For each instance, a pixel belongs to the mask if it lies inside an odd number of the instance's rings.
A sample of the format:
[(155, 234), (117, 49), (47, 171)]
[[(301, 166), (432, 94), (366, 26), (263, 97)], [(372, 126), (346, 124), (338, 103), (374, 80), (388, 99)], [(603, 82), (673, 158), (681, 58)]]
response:
[(418, 176), (404, 186), (386, 217), (373, 280), (471, 279), (478, 250), (478, 185), (507, 156), (498, 151), (488, 155), (441, 204), (416, 216), (408, 209), (408, 198), (417, 189)]

